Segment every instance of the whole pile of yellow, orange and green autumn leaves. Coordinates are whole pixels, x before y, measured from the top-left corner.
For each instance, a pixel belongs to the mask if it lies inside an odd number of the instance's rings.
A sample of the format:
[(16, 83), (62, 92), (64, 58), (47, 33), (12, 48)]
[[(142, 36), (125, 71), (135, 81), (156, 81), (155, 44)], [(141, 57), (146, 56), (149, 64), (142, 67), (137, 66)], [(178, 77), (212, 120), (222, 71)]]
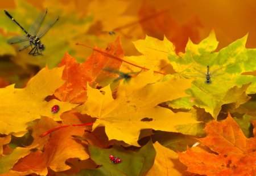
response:
[[(25, 88), (0, 89), (0, 175), (254, 175), (256, 140), (249, 137), (256, 132), (249, 128), (256, 125), (250, 111), (255, 101), (246, 92), (254, 88), (254, 76), (220, 92), (205, 78), (180, 76), (191, 72), (185, 62), (200, 65), (204, 57), (198, 55), (214, 55), (212, 38), (199, 45), (189, 41), (190, 57), (176, 55), (166, 38), (152, 37), (135, 42), (143, 55), (123, 57), (117, 38), (106, 49), (94, 48), (84, 63), (65, 53), (59, 67), (43, 68)], [(242, 52), (245, 40), (230, 46), (234, 53), (236, 47)], [(202, 52), (204, 45), (213, 47)], [(230, 48), (220, 53), (229, 51), (236, 60)], [(103, 70), (109, 67), (138, 74), (113, 81), (119, 75)], [(237, 78), (230, 77), (230, 84)], [(213, 100), (204, 101), (202, 90), (211, 90)], [(51, 112), (54, 105), (57, 113)], [(233, 118), (228, 111), (246, 115)], [(217, 122), (220, 114), (228, 117)], [(122, 162), (114, 164), (110, 154)]]

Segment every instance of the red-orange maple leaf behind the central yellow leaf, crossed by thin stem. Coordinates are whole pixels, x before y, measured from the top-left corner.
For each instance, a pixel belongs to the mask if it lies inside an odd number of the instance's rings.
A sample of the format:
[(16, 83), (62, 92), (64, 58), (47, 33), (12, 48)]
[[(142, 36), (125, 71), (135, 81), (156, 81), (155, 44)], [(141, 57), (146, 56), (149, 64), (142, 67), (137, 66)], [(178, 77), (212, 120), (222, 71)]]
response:
[[(118, 58), (123, 57), (123, 49), (119, 37), (114, 42), (110, 42), (108, 48), (98, 50)], [(108, 78), (108, 76), (113, 78), (113, 74), (106, 76), (106, 72), (102, 72), (102, 69), (111, 67), (119, 70), (121, 64), (121, 61), (96, 51), (93, 51), (92, 55), (84, 63), (77, 63), (75, 58), (65, 53), (59, 64), (59, 67), (65, 66), (62, 75), (65, 83), (55, 91), (54, 95), (61, 101), (69, 101), (75, 104), (85, 102), (87, 99), (87, 82), (92, 84), (93, 87), (105, 86), (104, 79)]]

